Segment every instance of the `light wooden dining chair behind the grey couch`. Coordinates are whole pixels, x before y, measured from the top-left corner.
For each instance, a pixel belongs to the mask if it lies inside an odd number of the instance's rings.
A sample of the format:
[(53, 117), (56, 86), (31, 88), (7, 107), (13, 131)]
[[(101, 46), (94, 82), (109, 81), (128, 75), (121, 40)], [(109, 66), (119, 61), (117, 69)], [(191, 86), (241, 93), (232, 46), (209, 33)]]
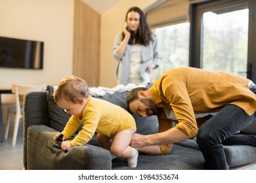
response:
[(12, 93), (15, 96), (15, 106), (11, 106), (7, 111), (7, 124), (5, 127), (5, 139), (8, 137), (9, 126), (11, 122), (11, 116), (15, 115), (14, 129), (12, 135), (12, 146), (16, 144), (16, 138), (18, 133), (18, 125), (20, 119), (23, 117), (23, 98), (26, 93), (41, 92), (46, 90), (46, 84), (39, 84), (34, 86), (12, 84)]

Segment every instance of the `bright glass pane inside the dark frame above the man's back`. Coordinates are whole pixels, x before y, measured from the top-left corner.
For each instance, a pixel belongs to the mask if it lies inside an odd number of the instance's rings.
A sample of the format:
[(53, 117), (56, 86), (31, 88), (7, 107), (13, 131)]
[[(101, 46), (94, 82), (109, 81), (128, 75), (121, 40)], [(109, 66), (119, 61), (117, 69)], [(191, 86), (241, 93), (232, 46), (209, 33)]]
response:
[(203, 13), (202, 68), (246, 77), (248, 9)]

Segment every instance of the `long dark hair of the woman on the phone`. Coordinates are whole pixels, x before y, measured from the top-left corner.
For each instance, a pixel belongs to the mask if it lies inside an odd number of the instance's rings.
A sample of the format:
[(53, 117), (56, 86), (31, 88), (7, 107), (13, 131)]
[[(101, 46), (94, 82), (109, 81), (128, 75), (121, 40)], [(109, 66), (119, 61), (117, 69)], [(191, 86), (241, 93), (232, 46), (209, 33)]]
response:
[[(131, 31), (131, 37), (129, 39), (128, 44), (141, 44), (141, 45), (148, 45), (150, 40), (152, 40), (152, 31), (148, 27), (148, 23), (146, 22), (146, 18), (144, 16), (144, 12), (140, 10), (138, 7), (131, 7), (126, 13), (125, 22), (127, 22), (127, 15), (129, 12), (138, 12), (140, 14), (140, 24), (137, 33), (135, 34)], [(125, 33), (122, 33), (122, 40), (125, 37)]]

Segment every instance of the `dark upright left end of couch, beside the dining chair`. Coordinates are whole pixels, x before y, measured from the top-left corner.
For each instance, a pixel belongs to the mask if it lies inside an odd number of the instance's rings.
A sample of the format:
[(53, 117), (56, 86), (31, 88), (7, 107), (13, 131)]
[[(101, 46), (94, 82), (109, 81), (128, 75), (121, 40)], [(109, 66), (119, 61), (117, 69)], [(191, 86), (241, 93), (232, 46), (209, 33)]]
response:
[(27, 168), (27, 131), (30, 125), (50, 125), (47, 92), (31, 92), (23, 103), (23, 163)]

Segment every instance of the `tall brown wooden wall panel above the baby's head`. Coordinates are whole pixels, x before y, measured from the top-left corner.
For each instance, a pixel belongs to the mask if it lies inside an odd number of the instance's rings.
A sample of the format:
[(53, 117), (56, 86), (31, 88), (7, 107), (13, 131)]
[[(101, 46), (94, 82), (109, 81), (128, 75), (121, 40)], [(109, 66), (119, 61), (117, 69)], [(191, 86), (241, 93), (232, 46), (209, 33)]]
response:
[(100, 14), (81, 0), (75, 0), (73, 74), (90, 87), (100, 80)]

